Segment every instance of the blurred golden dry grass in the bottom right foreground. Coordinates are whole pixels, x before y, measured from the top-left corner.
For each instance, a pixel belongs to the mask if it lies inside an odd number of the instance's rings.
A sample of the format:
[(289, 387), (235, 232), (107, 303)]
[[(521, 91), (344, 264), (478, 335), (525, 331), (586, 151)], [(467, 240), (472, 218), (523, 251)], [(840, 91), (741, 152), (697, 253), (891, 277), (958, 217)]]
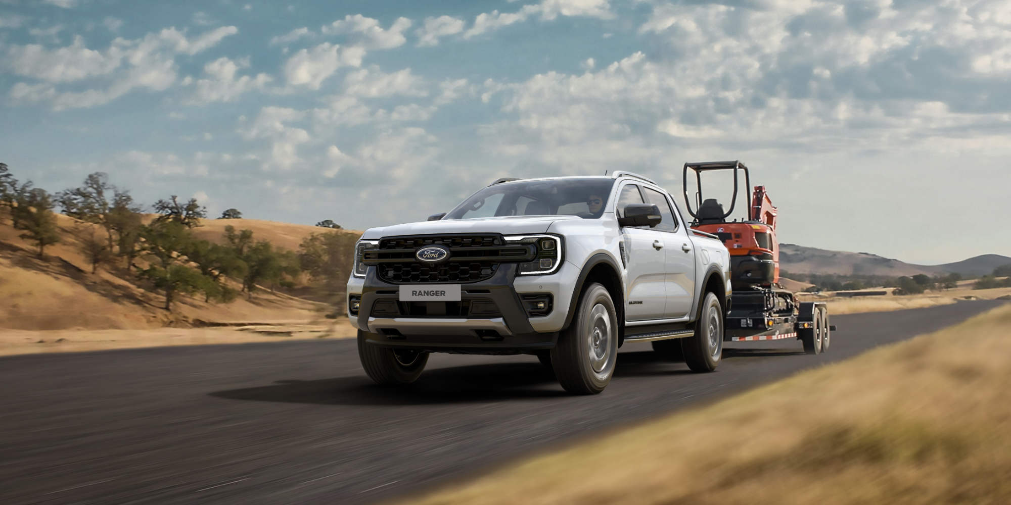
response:
[(1011, 503), (1011, 305), (415, 503)]

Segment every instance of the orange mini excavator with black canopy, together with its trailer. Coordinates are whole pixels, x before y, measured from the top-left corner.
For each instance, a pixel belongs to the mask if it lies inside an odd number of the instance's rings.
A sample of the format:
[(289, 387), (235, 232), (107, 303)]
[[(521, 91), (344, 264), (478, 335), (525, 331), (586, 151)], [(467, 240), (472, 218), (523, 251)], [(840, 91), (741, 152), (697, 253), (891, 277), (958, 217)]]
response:
[[(730, 209), (715, 198), (703, 198), (703, 174), (733, 171), (734, 192)], [(695, 173), (695, 206), (688, 197), (688, 171)], [(804, 350), (817, 355), (827, 350), (830, 331), (825, 302), (799, 302), (797, 296), (779, 285), (779, 241), (775, 237), (778, 211), (765, 192), (755, 186), (744, 217), (728, 220), (734, 213), (739, 193), (739, 175), (751, 189), (748, 168), (739, 161), (684, 164), (682, 184), (684, 204), (695, 219), (692, 227), (714, 234), (730, 251), (730, 284), (733, 291), (727, 313), (725, 339), (731, 341), (797, 338)]]

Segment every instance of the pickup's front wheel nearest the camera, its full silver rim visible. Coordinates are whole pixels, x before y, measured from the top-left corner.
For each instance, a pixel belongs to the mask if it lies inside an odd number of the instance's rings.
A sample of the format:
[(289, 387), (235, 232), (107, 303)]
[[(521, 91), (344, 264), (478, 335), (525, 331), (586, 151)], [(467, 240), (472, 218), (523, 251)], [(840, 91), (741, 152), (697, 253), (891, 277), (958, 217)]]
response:
[(618, 311), (608, 290), (599, 283), (579, 297), (572, 324), (558, 335), (551, 349), (555, 377), (565, 391), (594, 395), (604, 391), (618, 359)]

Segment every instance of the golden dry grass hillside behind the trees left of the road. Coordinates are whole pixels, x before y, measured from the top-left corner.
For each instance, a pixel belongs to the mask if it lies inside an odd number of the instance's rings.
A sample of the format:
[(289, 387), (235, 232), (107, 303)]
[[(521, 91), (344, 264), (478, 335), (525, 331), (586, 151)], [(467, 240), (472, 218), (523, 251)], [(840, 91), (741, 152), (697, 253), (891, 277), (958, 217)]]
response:
[[(306, 321), (319, 319), (330, 310), (326, 304), (259, 290), (251, 300), (242, 297), (220, 304), (182, 296), (170, 314), (161, 308), (161, 294), (146, 289), (122, 268), (121, 261), (91, 274), (75, 235), (93, 225), (64, 215), (57, 217), (62, 241), (47, 247), (44, 259), (37, 259), (34, 248), (12, 228), (10, 219), (0, 216), (0, 328), (149, 328), (186, 326), (197, 320)], [(227, 219), (204, 220), (195, 234), (219, 241), (227, 224), (252, 229), (255, 239), (293, 250), (305, 236), (325, 231), (314, 226)], [(97, 233), (104, 236), (102, 230)]]

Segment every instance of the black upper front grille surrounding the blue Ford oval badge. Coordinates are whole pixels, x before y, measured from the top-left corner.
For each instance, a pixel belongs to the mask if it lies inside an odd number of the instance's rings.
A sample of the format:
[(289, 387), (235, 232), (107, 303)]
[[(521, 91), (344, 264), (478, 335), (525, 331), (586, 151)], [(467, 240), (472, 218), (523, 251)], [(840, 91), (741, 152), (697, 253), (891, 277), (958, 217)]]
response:
[[(418, 261), (418, 249), (429, 245), (447, 247), (449, 260)], [(375, 265), (379, 279), (391, 284), (473, 283), (491, 279), (503, 262), (530, 262), (536, 254), (533, 244), (507, 244), (497, 234), (394, 236), (366, 249), (362, 262)]]

